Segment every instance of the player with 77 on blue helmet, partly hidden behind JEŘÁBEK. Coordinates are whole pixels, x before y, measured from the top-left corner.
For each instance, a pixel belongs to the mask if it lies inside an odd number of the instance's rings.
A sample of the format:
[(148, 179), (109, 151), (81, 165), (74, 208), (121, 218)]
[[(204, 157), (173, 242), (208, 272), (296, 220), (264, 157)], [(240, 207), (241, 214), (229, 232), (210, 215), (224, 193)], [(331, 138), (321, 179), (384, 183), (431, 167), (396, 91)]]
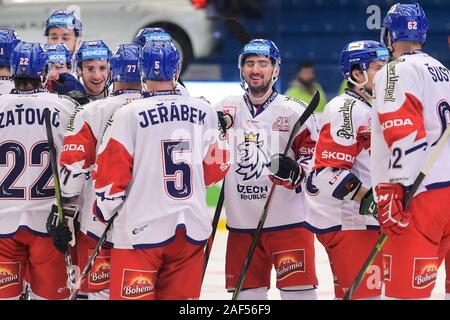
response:
[[(78, 107), (64, 138), (60, 158), (63, 167), (62, 196), (66, 203), (73, 203), (83, 194), (81, 228), (77, 233), (78, 265), (81, 270), (105, 228), (103, 223), (94, 218), (92, 211), (95, 193), (91, 171), (95, 164), (97, 143), (101, 140), (105, 125), (114, 111), (142, 97), (141, 58), (142, 50), (139, 46), (119, 46), (111, 58), (113, 93), (108, 98)], [(67, 240), (72, 237), (68, 235), (70, 231), (66, 226), (59, 228), (64, 230), (51, 234), (55, 235), (58, 249), (64, 251)], [(95, 262), (81, 289), (88, 293), (89, 299), (108, 299), (109, 249), (103, 249)]]

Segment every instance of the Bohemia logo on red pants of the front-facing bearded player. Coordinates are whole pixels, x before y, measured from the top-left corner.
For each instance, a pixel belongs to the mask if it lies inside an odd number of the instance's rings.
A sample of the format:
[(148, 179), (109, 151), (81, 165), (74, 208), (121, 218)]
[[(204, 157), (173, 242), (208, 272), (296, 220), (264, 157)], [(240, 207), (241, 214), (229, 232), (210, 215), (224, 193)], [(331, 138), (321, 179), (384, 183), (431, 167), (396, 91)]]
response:
[(273, 254), (277, 280), (283, 280), (297, 272), (305, 272), (305, 250), (294, 249)]

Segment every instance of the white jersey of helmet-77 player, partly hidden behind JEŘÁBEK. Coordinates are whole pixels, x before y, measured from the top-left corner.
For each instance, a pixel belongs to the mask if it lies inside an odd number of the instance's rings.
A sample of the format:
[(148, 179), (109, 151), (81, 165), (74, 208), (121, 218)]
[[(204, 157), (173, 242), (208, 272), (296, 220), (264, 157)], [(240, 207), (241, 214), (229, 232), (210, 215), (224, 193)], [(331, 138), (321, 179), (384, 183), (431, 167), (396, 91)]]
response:
[(94, 184), (91, 172), (95, 164), (98, 141), (111, 115), (124, 104), (142, 98), (139, 90), (122, 90), (105, 99), (95, 100), (77, 108), (72, 115), (64, 137), (60, 158), (62, 170), (61, 193), (64, 198), (74, 199), (82, 194), (80, 230), (100, 237), (105, 224), (94, 216)]

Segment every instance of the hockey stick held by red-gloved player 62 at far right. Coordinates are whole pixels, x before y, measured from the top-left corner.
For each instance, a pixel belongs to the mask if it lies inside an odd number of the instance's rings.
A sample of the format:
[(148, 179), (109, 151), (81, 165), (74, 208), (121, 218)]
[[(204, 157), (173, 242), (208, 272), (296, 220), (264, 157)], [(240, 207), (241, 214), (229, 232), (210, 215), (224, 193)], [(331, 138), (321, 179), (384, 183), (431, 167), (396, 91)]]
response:
[[(406, 209), (406, 207), (408, 206), (409, 202), (411, 201), (411, 199), (413, 198), (414, 194), (416, 193), (417, 189), (419, 188), (420, 184), (422, 183), (423, 179), (430, 172), (430, 170), (433, 167), (433, 164), (434, 164), (436, 158), (439, 156), (439, 154), (441, 153), (442, 149), (444, 148), (445, 143), (447, 142), (449, 136), (450, 136), (450, 126), (448, 126), (445, 129), (445, 131), (442, 133), (442, 136), (439, 138), (438, 143), (436, 144), (436, 146), (431, 151), (431, 154), (428, 157), (428, 160), (423, 165), (422, 170), (420, 171), (420, 173), (417, 176), (416, 180), (414, 180), (414, 183), (411, 186), (408, 194), (405, 196), (405, 198), (403, 200), (403, 202), (404, 202), (403, 210)], [(387, 239), (388, 239), (388, 236), (386, 234), (381, 235), (380, 239), (375, 244), (375, 247), (370, 252), (370, 255), (367, 258), (366, 262), (364, 263), (364, 265), (362, 266), (361, 270), (359, 270), (358, 274), (356, 275), (356, 278), (353, 281), (352, 285), (350, 286), (350, 288), (346, 292), (346, 294), (344, 296), (344, 300), (350, 300), (352, 298), (353, 294), (356, 292), (356, 290), (358, 289), (359, 285), (361, 284), (361, 281), (364, 278), (364, 275), (366, 274), (367, 269), (373, 263), (375, 258), (378, 256), (378, 253), (381, 251), (381, 249), (385, 245)]]

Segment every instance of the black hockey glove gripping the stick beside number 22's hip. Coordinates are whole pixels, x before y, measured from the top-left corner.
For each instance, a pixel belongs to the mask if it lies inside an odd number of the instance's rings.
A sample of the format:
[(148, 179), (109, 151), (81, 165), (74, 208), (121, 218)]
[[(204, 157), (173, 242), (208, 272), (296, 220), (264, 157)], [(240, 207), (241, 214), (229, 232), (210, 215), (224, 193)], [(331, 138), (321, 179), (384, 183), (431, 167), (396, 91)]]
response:
[(58, 223), (58, 206), (52, 205), (52, 210), (47, 218), (46, 228), (48, 234), (53, 238), (53, 244), (58, 251), (64, 253), (70, 244), (75, 246), (75, 234), (80, 229), (78, 222), (78, 207), (64, 207), (65, 223)]

